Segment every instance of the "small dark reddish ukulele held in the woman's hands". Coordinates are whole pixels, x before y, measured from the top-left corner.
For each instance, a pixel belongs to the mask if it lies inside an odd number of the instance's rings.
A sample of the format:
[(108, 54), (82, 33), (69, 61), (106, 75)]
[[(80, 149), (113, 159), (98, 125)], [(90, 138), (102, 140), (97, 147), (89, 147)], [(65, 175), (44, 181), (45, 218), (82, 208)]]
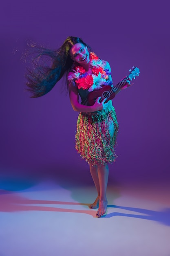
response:
[(115, 92), (122, 86), (126, 85), (127, 80), (131, 81), (132, 79), (135, 79), (136, 76), (139, 76), (140, 73), (138, 67), (132, 67), (132, 70), (129, 70), (129, 72), (130, 74), (119, 83), (117, 83), (115, 86), (111, 87), (110, 85), (104, 85), (101, 89), (90, 92), (83, 104), (85, 104), (87, 101), (87, 106), (92, 106), (98, 97), (101, 97), (99, 99), (99, 102), (102, 102), (104, 99), (107, 98), (105, 103), (108, 102), (110, 99), (113, 99), (116, 95)]

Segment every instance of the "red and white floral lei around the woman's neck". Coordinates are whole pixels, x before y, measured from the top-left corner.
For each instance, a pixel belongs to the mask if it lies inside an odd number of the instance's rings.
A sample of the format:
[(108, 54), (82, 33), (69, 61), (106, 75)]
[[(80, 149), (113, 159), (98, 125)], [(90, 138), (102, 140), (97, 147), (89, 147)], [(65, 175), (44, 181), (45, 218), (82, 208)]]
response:
[(90, 52), (91, 74), (88, 74), (84, 67), (75, 64), (73, 73), (67, 77), (68, 81), (71, 81), (78, 89), (88, 89), (89, 92), (100, 89), (103, 85), (112, 85), (112, 81), (107, 81), (111, 72), (109, 69), (104, 70), (105, 65), (106, 63), (99, 59), (94, 52)]

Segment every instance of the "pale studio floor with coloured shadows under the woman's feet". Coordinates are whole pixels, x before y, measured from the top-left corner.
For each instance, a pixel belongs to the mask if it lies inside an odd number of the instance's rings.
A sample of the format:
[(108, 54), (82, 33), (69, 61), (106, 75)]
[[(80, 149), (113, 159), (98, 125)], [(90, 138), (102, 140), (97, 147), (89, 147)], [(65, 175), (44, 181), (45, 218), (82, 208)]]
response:
[(0, 256), (170, 256), (168, 185), (109, 185), (107, 195), (107, 213), (96, 218), (93, 186), (1, 189)]

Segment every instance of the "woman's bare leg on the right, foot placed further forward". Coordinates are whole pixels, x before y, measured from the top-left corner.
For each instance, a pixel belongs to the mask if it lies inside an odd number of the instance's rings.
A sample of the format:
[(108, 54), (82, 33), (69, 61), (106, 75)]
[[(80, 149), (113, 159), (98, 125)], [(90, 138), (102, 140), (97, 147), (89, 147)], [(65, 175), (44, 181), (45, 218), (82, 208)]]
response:
[(99, 209), (96, 213), (97, 217), (101, 217), (106, 213), (107, 210), (107, 198), (106, 198), (106, 189), (108, 184), (108, 165), (97, 166), (99, 186), (100, 186), (100, 195), (99, 195)]

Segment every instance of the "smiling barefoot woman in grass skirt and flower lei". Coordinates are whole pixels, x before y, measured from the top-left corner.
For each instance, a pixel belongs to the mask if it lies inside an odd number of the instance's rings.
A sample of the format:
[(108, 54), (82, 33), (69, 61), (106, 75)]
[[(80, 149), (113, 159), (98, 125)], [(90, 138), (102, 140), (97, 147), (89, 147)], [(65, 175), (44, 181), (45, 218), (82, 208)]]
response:
[[(36, 63), (35, 68), (28, 70), (26, 78), (32, 97), (48, 93), (63, 77), (67, 77), (69, 96), (73, 110), (79, 112), (77, 133), (75, 135), (78, 153), (90, 166), (91, 176), (97, 189), (97, 198), (90, 204), (91, 209), (98, 208), (96, 216), (101, 217), (107, 210), (106, 188), (108, 183), (108, 163), (115, 161), (115, 144), (118, 123), (112, 101), (100, 102), (98, 97), (91, 106), (88, 94), (105, 85), (113, 86), (111, 69), (107, 61), (100, 60), (91, 47), (81, 38), (70, 36), (57, 51), (38, 49), (36, 60), (49, 56), (52, 66)], [(129, 86), (129, 81), (121, 89)], [(118, 93), (120, 90), (117, 90)], [(81, 103), (79, 103), (79, 96)]]

